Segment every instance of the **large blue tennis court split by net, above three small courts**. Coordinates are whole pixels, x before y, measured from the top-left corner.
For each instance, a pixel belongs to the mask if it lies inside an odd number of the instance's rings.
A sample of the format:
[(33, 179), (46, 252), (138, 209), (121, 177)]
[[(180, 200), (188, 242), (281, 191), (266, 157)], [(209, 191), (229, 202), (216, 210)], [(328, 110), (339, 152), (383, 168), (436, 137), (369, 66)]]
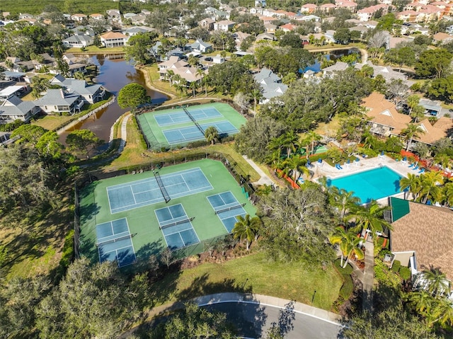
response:
[[(166, 174), (161, 176), (161, 179), (171, 198), (185, 197), (186, 195), (212, 190), (210, 181), (207, 180), (205, 173), (199, 167)], [(154, 177), (109, 186), (107, 195), (112, 214), (164, 201)]]

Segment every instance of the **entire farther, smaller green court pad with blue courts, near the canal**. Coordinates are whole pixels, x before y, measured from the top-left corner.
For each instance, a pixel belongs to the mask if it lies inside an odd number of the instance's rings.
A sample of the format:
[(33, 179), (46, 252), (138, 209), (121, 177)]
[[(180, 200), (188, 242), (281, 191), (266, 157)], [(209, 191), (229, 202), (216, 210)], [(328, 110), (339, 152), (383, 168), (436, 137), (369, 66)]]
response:
[(143, 113), (137, 121), (149, 148), (160, 150), (203, 140), (210, 126), (221, 137), (236, 134), (246, 118), (226, 103), (209, 103)]

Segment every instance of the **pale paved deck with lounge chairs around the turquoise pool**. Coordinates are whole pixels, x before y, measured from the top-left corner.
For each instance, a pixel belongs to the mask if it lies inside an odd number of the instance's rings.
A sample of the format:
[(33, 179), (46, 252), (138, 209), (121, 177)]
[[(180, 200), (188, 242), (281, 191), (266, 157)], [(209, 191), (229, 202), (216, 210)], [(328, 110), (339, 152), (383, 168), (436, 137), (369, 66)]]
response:
[[(364, 159), (360, 157), (360, 161), (358, 161), (358, 163), (355, 163), (355, 161), (353, 161), (349, 165), (341, 163), (340, 166), (343, 167), (343, 169), (339, 170), (334, 166), (330, 166), (328, 163), (323, 161), (322, 166), (319, 166), (318, 163), (314, 163), (314, 167), (311, 168), (311, 171), (313, 171), (314, 175), (310, 178), (310, 180), (315, 181), (316, 179), (319, 179), (323, 176), (326, 176), (331, 179), (341, 178), (343, 176), (349, 176), (354, 173), (368, 171), (370, 169), (379, 168), (381, 166), (387, 166), (396, 173), (398, 173), (399, 175), (404, 176), (406, 178), (408, 176), (408, 173), (418, 174), (420, 168), (418, 168), (418, 170), (416, 171), (413, 171), (412, 168), (408, 167), (409, 165), (410, 163), (408, 162), (395, 161), (394, 159), (391, 159), (389, 156), (376, 156), (374, 158), (369, 159)], [(403, 197), (404, 193), (398, 193), (392, 196)], [(387, 198), (382, 198), (378, 200), (378, 202), (382, 205), (386, 205), (386, 201)]]

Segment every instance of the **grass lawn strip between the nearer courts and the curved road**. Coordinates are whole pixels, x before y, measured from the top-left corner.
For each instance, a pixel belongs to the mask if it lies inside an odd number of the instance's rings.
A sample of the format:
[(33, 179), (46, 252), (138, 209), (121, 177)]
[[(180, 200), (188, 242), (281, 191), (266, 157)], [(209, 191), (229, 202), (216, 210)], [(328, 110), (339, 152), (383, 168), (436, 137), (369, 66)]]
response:
[(251, 292), (312, 304), (316, 288), (313, 305), (331, 310), (342, 285), (333, 266), (322, 270), (304, 263), (273, 263), (260, 252), (172, 273), (156, 282), (155, 288), (161, 304), (173, 296), (173, 300), (186, 300), (218, 292)]

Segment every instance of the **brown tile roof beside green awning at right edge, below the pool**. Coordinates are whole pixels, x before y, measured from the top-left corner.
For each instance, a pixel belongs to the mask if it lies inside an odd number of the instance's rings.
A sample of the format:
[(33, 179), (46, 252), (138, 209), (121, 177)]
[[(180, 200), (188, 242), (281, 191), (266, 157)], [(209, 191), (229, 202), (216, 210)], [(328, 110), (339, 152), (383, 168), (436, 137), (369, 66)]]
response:
[(415, 251), (418, 269), (433, 265), (453, 280), (453, 212), (409, 202), (410, 212), (393, 223), (391, 251)]

